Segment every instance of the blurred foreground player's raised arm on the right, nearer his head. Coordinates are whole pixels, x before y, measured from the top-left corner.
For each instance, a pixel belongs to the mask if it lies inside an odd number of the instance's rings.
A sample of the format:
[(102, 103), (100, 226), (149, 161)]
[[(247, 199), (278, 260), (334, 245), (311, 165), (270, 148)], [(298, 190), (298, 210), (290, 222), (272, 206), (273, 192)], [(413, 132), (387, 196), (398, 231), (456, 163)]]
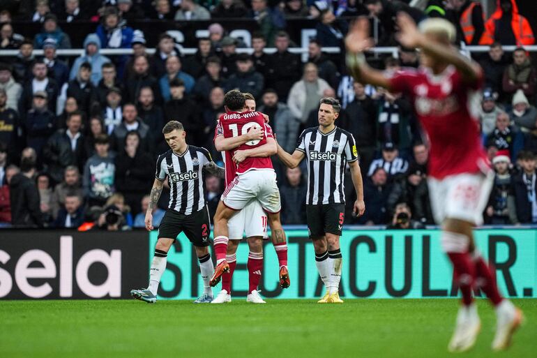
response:
[(452, 64), (459, 70), (464, 82), (472, 83), (481, 77), (481, 67), (476, 62), (462, 56), (453, 46), (446, 46), (444, 43), (426, 38), (407, 13), (399, 13), (398, 26), (400, 28), (398, 40), (404, 47), (420, 48), (430, 57)]

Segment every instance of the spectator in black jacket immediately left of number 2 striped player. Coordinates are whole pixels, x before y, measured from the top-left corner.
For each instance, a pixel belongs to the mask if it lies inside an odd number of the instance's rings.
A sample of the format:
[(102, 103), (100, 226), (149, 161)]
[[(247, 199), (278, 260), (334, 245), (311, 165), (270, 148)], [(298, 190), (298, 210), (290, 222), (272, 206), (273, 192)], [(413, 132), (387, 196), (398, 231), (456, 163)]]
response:
[(151, 190), (153, 173), (148, 170), (155, 165), (149, 154), (139, 147), (140, 136), (131, 130), (125, 137), (125, 147), (116, 156), (116, 190), (123, 193), (133, 215), (140, 211), (142, 197)]

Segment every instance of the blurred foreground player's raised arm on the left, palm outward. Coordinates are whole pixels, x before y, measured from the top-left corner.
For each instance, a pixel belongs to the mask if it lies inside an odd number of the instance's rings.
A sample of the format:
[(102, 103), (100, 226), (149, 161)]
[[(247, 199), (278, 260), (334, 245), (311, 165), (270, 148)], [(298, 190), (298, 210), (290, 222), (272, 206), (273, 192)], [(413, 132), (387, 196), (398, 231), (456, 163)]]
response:
[(369, 20), (364, 16), (358, 17), (345, 37), (347, 68), (357, 82), (384, 87), (389, 91), (391, 89), (390, 81), (384, 72), (375, 70), (365, 61), (363, 52), (372, 46), (373, 40), (369, 36)]

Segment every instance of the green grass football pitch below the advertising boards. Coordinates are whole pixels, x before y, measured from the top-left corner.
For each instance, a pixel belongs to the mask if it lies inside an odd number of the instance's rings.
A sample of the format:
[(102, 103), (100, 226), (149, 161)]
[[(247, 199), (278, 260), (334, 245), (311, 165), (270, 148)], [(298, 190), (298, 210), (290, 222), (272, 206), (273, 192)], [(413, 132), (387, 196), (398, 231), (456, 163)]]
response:
[[(482, 330), (460, 357), (537, 357), (537, 300), (515, 300), (526, 324), (493, 354), (494, 313), (479, 300)], [(0, 357), (453, 357), (453, 299), (1, 301)]]

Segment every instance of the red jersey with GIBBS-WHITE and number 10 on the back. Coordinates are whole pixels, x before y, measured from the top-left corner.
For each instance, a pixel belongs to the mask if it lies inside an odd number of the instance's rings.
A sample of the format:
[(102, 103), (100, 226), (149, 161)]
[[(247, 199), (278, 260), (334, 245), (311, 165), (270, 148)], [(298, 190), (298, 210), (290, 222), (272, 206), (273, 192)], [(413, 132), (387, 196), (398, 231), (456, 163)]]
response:
[[(224, 156), (226, 165), (226, 182), (228, 179), (228, 167), (229, 177), (231, 179), (234, 177), (234, 175), (230, 175), (231, 170), (235, 170), (235, 174), (243, 174), (248, 172), (248, 170), (273, 170), (272, 161), (269, 156), (246, 158), (242, 163), (239, 163), (239, 165), (235, 165), (235, 163), (232, 161), (233, 154), (236, 150), (260, 147), (263, 144), (266, 144), (266, 138), (273, 137), (273, 133), (272, 128), (268, 124), (265, 124), (264, 117), (259, 112), (228, 112), (220, 116), (218, 126), (216, 127), (215, 136), (222, 134), (225, 138), (237, 137), (247, 133), (250, 128), (256, 126), (264, 128), (264, 138), (262, 140), (250, 140), (250, 142), (241, 144), (236, 149), (226, 151)], [(218, 127), (220, 127), (220, 129)], [(228, 163), (232, 163), (233, 165), (228, 165)]]

